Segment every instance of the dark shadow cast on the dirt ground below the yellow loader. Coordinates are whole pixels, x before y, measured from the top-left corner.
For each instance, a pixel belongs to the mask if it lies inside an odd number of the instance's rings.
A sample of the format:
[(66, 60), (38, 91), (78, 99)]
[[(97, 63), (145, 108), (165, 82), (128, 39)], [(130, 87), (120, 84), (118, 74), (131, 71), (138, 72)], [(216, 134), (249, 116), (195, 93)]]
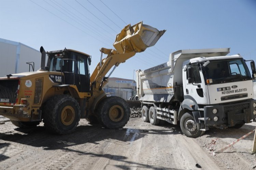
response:
[[(115, 154), (96, 154), (92, 152), (84, 152), (84, 150), (74, 150), (72, 146), (82, 145), (86, 143), (94, 143), (99, 145), (99, 141), (113, 142), (116, 145), (130, 145), (134, 140), (138, 140), (147, 135), (176, 135), (180, 134), (179, 128), (174, 128), (171, 124), (160, 125), (163, 130), (153, 129), (130, 129), (123, 128), (119, 130), (110, 130), (102, 128), (99, 125), (80, 125), (77, 127), (76, 131), (69, 135), (54, 135), (47, 132), (43, 126), (38, 126), (35, 129), (20, 129), (16, 128), (15, 131), (11, 133), (0, 133), (0, 140), (5, 143), (0, 143), (0, 149), (5, 147), (8, 149), (11, 142), (20, 143), (23, 145), (41, 147), (44, 150), (63, 150), (66, 152), (75, 152), (80, 155), (88, 155), (92, 157), (105, 157), (119, 162), (124, 162), (127, 164), (133, 164), (138, 168), (153, 168), (153, 169), (172, 169), (172, 168), (159, 168), (152, 167), (147, 164), (141, 164), (137, 162), (130, 162), (128, 157), (120, 156)], [(0, 162), (8, 159), (4, 156), (4, 153), (0, 153)], [(117, 165), (117, 168), (129, 169), (127, 166)]]

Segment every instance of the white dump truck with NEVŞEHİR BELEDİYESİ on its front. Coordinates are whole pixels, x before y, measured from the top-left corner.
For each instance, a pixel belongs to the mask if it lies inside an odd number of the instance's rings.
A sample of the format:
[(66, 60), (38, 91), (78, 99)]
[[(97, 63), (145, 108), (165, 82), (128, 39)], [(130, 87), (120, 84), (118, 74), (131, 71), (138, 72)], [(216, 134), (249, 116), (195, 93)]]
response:
[(179, 50), (169, 61), (137, 70), (137, 94), (142, 118), (157, 125), (160, 120), (180, 122), (188, 137), (198, 137), (209, 127), (241, 128), (256, 118), (252, 74), (240, 54), (230, 48)]

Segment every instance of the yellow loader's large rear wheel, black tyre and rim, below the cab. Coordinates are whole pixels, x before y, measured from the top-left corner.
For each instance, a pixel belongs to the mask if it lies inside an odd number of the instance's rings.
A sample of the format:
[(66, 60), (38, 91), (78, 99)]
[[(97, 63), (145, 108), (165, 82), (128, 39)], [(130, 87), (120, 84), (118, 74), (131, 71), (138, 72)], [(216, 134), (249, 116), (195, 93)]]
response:
[(69, 95), (54, 96), (46, 102), (43, 122), (47, 130), (55, 134), (73, 132), (80, 120), (78, 102)]

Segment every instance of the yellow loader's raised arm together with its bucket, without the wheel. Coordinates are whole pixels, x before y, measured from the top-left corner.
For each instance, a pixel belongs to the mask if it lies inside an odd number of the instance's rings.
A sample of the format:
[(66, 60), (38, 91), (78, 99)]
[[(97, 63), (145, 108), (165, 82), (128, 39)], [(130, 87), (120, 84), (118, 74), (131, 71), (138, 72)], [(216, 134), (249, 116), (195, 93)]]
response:
[(105, 75), (112, 66), (117, 67), (137, 52), (145, 51), (146, 48), (154, 46), (165, 31), (158, 31), (156, 28), (143, 24), (142, 21), (134, 26), (129, 24), (117, 34), (113, 44), (116, 50), (101, 48), (101, 54), (104, 53), (108, 56), (99, 62), (90, 77), (94, 98), (102, 94), (101, 89), (108, 82)]

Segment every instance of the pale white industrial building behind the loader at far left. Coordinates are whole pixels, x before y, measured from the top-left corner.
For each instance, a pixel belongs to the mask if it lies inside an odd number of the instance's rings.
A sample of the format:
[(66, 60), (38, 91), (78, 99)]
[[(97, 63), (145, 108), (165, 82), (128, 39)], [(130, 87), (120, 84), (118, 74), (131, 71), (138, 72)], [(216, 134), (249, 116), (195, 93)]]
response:
[[(34, 71), (40, 68), (41, 53), (25, 44), (0, 38), (0, 76), (28, 72), (26, 62), (34, 62)], [(30, 71), (32, 67), (30, 67)]]

